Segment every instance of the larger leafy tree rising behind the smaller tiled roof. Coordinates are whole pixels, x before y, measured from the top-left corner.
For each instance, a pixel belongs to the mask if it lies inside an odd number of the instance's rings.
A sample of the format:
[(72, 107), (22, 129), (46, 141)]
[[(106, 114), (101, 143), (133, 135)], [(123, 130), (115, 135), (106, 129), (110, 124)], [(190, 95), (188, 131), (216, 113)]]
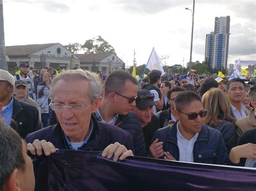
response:
[(107, 41), (104, 40), (101, 36), (86, 40), (84, 45), (82, 45), (82, 49), (84, 49), (86, 53), (116, 53), (114, 48), (109, 43), (107, 43)]

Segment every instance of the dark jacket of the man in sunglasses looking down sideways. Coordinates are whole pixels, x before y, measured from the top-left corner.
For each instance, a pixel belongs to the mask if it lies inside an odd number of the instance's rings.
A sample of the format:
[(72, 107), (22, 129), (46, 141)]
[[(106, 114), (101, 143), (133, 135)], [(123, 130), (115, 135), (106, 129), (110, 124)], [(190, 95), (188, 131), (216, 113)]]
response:
[(142, 125), (140, 124), (138, 116), (133, 112), (129, 112), (127, 115), (118, 115), (115, 125), (131, 134), (134, 155), (137, 157), (146, 157), (146, 145)]

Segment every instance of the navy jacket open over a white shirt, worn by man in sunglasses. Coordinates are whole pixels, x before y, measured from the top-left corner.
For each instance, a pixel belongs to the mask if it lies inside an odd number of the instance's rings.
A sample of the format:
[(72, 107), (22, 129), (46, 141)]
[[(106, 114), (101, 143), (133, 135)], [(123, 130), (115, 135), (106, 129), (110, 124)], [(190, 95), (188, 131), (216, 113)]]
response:
[[(164, 143), (164, 151), (179, 160), (179, 147), (177, 144), (177, 123), (166, 128), (158, 129), (151, 139), (151, 143), (159, 139)], [(223, 165), (227, 161), (227, 148), (223, 136), (218, 130), (203, 125), (193, 148), (194, 162)]]

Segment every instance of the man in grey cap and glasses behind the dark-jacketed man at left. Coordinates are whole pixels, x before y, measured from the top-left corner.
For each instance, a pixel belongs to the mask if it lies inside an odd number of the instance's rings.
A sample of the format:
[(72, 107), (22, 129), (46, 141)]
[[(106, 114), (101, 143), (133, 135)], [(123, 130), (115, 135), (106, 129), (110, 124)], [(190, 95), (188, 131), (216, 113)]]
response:
[(23, 101), (34, 105), (39, 112), (39, 118), (41, 120), (41, 109), (39, 108), (37, 102), (29, 97), (28, 89), (28, 83), (26, 83), (26, 81), (17, 80), (14, 86), (14, 97), (17, 98), (18, 101)]

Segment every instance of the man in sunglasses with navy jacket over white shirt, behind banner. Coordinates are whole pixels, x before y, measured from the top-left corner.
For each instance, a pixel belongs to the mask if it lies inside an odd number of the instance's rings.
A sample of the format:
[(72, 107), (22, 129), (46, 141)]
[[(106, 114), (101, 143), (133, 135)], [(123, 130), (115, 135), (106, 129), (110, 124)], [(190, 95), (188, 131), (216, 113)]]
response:
[(182, 91), (175, 99), (177, 122), (156, 131), (150, 146), (153, 158), (223, 165), (227, 148), (218, 130), (203, 124), (207, 110), (198, 94)]

